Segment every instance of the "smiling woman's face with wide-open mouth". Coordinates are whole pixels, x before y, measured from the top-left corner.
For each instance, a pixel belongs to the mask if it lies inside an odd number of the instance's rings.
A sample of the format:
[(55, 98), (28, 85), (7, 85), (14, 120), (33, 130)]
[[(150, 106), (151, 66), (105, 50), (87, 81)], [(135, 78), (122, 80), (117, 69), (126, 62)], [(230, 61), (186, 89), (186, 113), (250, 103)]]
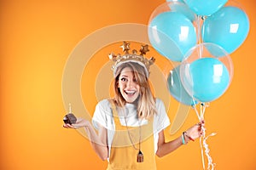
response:
[(120, 72), (118, 88), (127, 103), (133, 103), (138, 98), (140, 86), (137, 84), (131, 68), (125, 67)]

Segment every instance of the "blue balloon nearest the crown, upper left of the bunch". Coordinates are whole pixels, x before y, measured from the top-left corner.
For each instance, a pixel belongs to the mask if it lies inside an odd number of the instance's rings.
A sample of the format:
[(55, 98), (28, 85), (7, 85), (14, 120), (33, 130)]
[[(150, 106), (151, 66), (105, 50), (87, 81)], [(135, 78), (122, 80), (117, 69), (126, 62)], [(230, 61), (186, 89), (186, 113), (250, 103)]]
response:
[(196, 32), (192, 22), (178, 12), (158, 14), (148, 26), (152, 46), (173, 61), (182, 61), (184, 54), (196, 44)]

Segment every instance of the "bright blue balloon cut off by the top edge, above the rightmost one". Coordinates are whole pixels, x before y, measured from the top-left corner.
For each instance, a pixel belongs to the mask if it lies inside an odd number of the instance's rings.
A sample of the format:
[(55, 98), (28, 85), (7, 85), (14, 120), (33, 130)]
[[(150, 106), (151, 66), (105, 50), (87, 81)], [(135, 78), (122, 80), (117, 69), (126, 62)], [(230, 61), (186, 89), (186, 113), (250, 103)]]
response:
[(228, 0), (184, 0), (195, 14), (209, 16), (222, 8)]

